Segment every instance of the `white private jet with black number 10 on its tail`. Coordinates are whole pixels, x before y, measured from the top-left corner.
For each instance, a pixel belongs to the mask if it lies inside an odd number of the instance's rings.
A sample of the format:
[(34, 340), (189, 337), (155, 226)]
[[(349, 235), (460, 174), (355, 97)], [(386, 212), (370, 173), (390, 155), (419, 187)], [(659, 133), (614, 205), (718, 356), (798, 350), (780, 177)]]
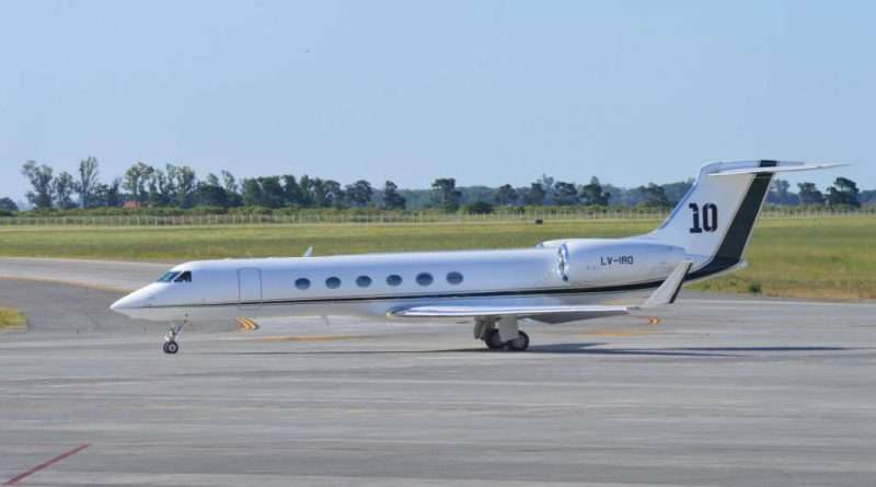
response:
[[(774, 174), (835, 167), (789, 161), (710, 163), (657, 229), (623, 239), (561, 239), (530, 248), (199, 260), (112, 305), (171, 323), (245, 316), (353, 315), (401, 323), (466, 321), (489, 349), (522, 351), (527, 320), (556, 324), (676, 301), (682, 285), (745, 267)], [(648, 295), (649, 294), (649, 295)], [(631, 304), (632, 303), (632, 304)]]

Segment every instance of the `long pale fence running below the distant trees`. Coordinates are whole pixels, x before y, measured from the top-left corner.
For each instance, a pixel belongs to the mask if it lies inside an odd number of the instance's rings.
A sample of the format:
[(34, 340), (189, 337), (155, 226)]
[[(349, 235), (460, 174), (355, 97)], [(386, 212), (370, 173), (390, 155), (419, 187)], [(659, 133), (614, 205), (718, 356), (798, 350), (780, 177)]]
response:
[[(495, 211), (487, 214), (437, 212), (405, 213), (292, 213), (292, 214), (184, 214), (184, 216), (76, 216), (76, 217), (5, 217), (0, 227), (201, 227), (201, 225), (299, 225), (299, 224), (419, 224), (419, 223), (489, 223), (514, 221), (588, 221), (588, 220), (661, 220), (668, 211), (659, 209), (623, 209), (593, 211), (579, 209)], [(876, 208), (858, 210), (770, 208), (761, 219), (822, 219), (876, 217)]]

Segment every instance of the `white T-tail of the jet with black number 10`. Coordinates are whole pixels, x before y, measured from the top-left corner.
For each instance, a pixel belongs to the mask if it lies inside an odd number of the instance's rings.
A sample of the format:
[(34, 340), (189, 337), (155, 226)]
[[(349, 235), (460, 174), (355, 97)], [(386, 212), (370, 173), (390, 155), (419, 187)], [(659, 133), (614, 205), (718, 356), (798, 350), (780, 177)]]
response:
[(774, 174), (840, 165), (765, 160), (706, 164), (669, 218), (645, 237), (684, 248), (694, 262), (689, 280), (730, 270), (744, 264)]

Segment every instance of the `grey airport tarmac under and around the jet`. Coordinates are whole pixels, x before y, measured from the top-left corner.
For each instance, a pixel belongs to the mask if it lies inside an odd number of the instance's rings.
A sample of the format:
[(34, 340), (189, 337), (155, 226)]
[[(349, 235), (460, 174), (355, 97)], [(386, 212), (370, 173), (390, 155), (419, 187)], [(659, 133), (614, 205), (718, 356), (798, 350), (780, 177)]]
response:
[(525, 325), (522, 353), (466, 324), (230, 317), (166, 356), (108, 305), (168, 267), (0, 258), (30, 321), (0, 333), (0, 484), (876, 484), (876, 303), (683, 291)]

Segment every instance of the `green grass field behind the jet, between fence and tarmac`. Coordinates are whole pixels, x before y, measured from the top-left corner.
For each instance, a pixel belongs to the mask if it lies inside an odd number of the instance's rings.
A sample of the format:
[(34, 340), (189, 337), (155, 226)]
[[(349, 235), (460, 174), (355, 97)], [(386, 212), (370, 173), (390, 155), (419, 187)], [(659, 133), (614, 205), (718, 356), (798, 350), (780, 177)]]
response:
[[(625, 236), (657, 221), (312, 224), (155, 229), (9, 228), (0, 255), (123, 260), (316, 255), (532, 246), (558, 237)], [(876, 218), (763, 220), (747, 253), (749, 268), (698, 286), (729, 292), (827, 299), (876, 299)]]

